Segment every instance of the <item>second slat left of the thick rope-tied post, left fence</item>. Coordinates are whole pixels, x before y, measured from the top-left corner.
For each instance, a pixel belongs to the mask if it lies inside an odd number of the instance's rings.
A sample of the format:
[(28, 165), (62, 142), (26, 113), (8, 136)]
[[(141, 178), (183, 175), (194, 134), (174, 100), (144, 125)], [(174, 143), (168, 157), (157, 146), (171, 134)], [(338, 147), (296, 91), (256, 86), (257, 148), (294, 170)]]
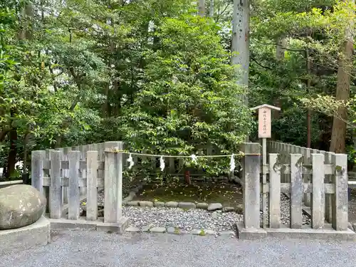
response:
[(68, 154), (68, 219), (70, 220), (77, 220), (79, 218), (79, 161), (80, 151), (70, 151)]

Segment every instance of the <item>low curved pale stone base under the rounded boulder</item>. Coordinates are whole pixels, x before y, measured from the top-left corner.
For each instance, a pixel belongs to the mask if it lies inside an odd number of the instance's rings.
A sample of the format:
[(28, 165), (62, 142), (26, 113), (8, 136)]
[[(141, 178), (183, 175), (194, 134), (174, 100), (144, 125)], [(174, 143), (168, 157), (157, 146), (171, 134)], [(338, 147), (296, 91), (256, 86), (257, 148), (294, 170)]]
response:
[(51, 242), (51, 224), (42, 216), (38, 221), (18, 229), (0, 231), (0, 256), (24, 251)]

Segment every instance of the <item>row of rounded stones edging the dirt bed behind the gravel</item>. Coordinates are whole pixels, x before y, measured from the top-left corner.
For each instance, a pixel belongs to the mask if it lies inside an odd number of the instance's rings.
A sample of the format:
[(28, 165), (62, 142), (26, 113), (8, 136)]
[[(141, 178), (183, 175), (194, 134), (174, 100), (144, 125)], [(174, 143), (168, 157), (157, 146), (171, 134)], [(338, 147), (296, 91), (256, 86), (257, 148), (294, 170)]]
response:
[(234, 208), (232, 206), (223, 206), (221, 203), (193, 203), (193, 202), (177, 202), (177, 201), (168, 201), (168, 202), (162, 202), (162, 201), (132, 201), (136, 197), (136, 193), (142, 189), (142, 187), (145, 185), (145, 183), (139, 184), (135, 189), (132, 189), (132, 191), (128, 194), (127, 197), (125, 197), (122, 200), (122, 205), (126, 206), (142, 206), (142, 207), (157, 207), (157, 208), (162, 208), (162, 207), (167, 207), (167, 208), (181, 208), (181, 209), (206, 209), (208, 211), (216, 211), (216, 210), (222, 210), (223, 212), (231, 212), (231, 211), (236, 211), (238, 214), (242, 214), (243, 206), (241, 204), (241, 208)]

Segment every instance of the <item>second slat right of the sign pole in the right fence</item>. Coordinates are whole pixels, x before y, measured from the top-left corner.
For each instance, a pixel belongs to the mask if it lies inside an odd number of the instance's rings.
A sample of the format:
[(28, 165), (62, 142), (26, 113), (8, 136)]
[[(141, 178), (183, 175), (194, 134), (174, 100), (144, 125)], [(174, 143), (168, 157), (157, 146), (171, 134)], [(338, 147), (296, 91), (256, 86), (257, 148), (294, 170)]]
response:
[(302, 155), (290, 155), (290, 228), (302, 227)]

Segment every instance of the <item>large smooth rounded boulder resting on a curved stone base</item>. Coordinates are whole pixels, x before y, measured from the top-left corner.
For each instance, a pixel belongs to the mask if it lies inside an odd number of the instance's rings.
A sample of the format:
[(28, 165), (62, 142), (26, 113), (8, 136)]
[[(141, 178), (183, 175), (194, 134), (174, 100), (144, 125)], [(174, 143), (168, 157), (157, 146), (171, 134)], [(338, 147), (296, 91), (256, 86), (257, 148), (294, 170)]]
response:
[(31, 185), (16, 184), (0, 189), (0, 230), (28, 226), (41, 218), (46, 198)]

